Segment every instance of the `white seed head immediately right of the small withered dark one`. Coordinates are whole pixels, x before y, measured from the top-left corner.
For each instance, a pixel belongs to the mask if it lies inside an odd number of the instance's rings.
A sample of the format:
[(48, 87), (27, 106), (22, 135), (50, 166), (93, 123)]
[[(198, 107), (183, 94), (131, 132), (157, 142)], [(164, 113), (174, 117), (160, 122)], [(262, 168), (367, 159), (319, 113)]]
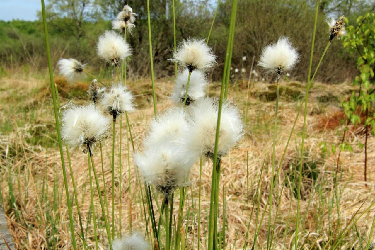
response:
[(116, 116), (125, 112), (134, 111), (133, 104), (134, 96), (121, 84), (113, 85), (101, 98), (101, 104), (106, 112), (113, 116), (114, 121)]

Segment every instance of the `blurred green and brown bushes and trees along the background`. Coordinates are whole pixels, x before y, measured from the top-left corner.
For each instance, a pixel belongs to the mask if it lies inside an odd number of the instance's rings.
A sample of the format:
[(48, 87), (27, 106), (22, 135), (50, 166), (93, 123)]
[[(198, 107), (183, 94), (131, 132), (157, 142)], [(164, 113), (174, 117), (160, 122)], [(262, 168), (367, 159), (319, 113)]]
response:
[[(264, 45), (279, 36), (289, 36), (301, 54), (300, 63), (291, 77), (306, 79), (314, 22), (315, 0), (241, 0), (239, 2), (233, 68), (255, 69)], [(358, 16), (370, 11), (374, 0), (321, 0), (317, 24), (315, 65), (326, 46), (329, 35), (325, 20), (345, 14), (348, 23), (357, 25)], [(60, 57), (74, 57), (88, 63), (91, 71), (101, 76), (111, 74), (112, 67), (96, 56), (96, 42), (105, 30), (111, 29), (111, 20), (125, 4), (138, 14), (135, 29), (128, 42), (133, 48), (129, 63), (131, 77), (148, 77), (147, 4), (139, 0), (49, 0), (47, 6), (48, 28), (52, 62)], [(175, 0), (177, 41), (184, 38), (206, 38), (217, 6), (215, 0)], [(174, 65), (167, 61), (173, 49), (173, 21), (171, 0), (151, 0), (151, 32), (153, 39), (154, 69), (156, 77), (173, 75)], [(212, 80), (219, 80), (225, 59), (231, 1), (222, 0), (211, 34), (209, 45), (217, 57), (217, 66), (211, 72)], [(40, 13), (38, 14), (40, 15)], [(10, 74), (9, 69), (22, 67), (27, 70), (45, 69), (45, 44), (42, 23), (39, 21), (0, 21), (0, 75)], [(247, 61), (242, 57), (246, 56)], [(345, 50), (341, 41), (334, 41), (318, 81), (339, 83), (353, 80), (358, 74), (356, 55)], [(267, 77), (266, 75), (264, 77)]]

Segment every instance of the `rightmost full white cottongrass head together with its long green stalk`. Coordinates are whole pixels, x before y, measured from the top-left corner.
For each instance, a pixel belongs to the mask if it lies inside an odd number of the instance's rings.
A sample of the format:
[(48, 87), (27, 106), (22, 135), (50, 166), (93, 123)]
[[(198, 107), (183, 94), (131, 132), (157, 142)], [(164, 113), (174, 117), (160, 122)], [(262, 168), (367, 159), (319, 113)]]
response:
[[(268, 217), (268, 232), (270, 232), (271, 215), (272, 215), (272, 197), (273, 197), (273, 181), (275, 174), (275, 146), (276, 146), (276, 133), (278, 121), (278, 108), (279, 108), (279, 92), (280, 92), (280, 79), (281, 74), (285, 71), (290, 71), (296, 65), (299, 59), (299, 54), (289, 41), (287, 37), (279, 38), (276, 44), (269, 44), (263, 48), (260, 65), (263, 69), (270, 73), (277, 75), (277, 90), (276, 90), (276, 107), (275, 107), (275, 124), (273, 127), (273, 146), (272, 146), (272, 170), (271, 170), (271, 187), (270, 187), (270, 202), (269, 202), (269, 217)], [(267, 248), (270, 243), (270, 233), (267, 236)]]

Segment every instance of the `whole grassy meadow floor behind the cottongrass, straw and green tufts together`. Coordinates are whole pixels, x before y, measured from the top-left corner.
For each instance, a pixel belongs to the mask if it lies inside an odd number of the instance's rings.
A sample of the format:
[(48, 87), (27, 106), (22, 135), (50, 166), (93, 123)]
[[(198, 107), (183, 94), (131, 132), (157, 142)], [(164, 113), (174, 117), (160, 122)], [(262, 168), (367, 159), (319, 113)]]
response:
[[(65, 105), (71, 99), (78, 104), (89, 100), (86, 93), (89, 79), (76, 84), (68, 84), (63, 78), (56, 78), (55, 82), (60, 93), (61, 105)], [(58, 144), (55, 140), (53, 113), (49, 108), (52, 101), (47, 75), (17, 70), (10, 77), (1, 78), (0, 83), (1, 176), (3, 176), (0, 183), (0, 198), (6, 211), (13, 240), (17, 249), (66, 248), (70, 242), (68, 209), (60, 156), (57, 150)], [(172, 78), (156, 80), (158, 111), (165, 110), (171, 105), (168, 96), (173, 84)], [(128, 86), (136, 95), (137, 110), (129, 116), (141, 143), (149, 121), (154, 115), (151, 82), (148, 79), (130, 78)], [(276, 159), (280, 159), (284, 151), (304, 89), (305, 83), (289, 79), (282, 80)], [(366, 247), (368, 241), (375, 207), (372, 206), (367, 211), (365, 209), (370, 206), (373, 200), (371, 194), (374, 191), (371, 185), (366, 187), (363, 182), (363, 148), (355, 146), (363, 143), (363, 127), (349, 127), (347, 140), (353, 145), (353, 150), (341, 152), (341, 171), (337, 176), (335, 175), (339, 149), (333, 148), (339, 145), (345, 127), (345, 117), (340, 108), (340, 102), (347, 98), (353, 89), (355, 87), (347, 83), (337, 85), (314, 83), (311, 87), (300, 202), (303, 224), (300, 241), (303, 242), (304, 249), (321, 249), (324, 246), (326, 249), (331, 248), (341, 233), (345, 234), (339, 242), (341, 249), (352, 247), (362, 249)], [(209, 84), (208, 95), (217, 96), (219, 91), (220, 83)], [(267, 244), (268, 212), (264, 214), (261, 227), (259, 224), (270, 192), (275, 88), (271, 83), (254, 81), (254, 79), (249, 83), (247, 78), (239, 77), (237, 81), (231, 83), (228, 99), (238, 105), (244, 119), (246, 117), (246, 127), (243, 139), (236, 148), (231, 150), (228, 157), (223, 159), (222, 163), (221, 183), (223, 186), (219, 193), (219, 225), (221, 225), (219, 230), (222, 232), (223, 223), (225, 223), (226, 230), (225, 237), (220, 235), (220, 239), (225, 242), (225, 247), (223, 247), (225, 249), (242, 249), (246, 246), (251, 248), (255, 232), (259, 232), (255, 249), (263, 249)], [(247, 115), (245, 115), (246, 107)], [(273, 249), (290, 249), (294, 242), (296, 178), (300, 159), (302, 123), (303, 117), (300, 117), (280, 174), (276, 179), (275, 204), (279, 205), (277, 211), (275, 208), (272, 218), (272, 221), (275, 221)], [(103, 168), (108, 197), (112, 192), (111, 141), (109, 138), (103, 143), (105, 160)], [(116, 143), (119, 143), (118, 140)], [(118, 146), (116, 148), (118, 149)], [(123, 159), (126, 159), (128, 148), (129, 143), (123, 139)], [(96, 153), (99, 151), (99, 148), (94, 149), (95, 160), (98, 164), (101, 158)], [(86, 241), (88, 246), (93, 248), (95, 240), (92, 216), (90, 216), (92, 208), (87, 157), (78, 149), (72, 151), (70, 157)], [(374, 162), (374, 157), (375, 140), (370, 137), (368, 141), (369, 163)], [(115, 161), (118, 163), (118, 155)], [(133, 230), (145, 228), (140, 187), (135, 177), (132, 161), (130, 157), (131, 192), (127, 177), (128, 165), (124, 162), (121, 204), (118, 200), (115, 203), (116, 208), (119, 205), (122, 206), (123, 232), (129, 231), (129, 220), (132, 221)], [(207, 244), (211, 169), (211, 163), (203, 160), (200, 235), (198, 235), (197, 224), (199, 162), (190, 171), (186, 213), (183, 218), (183, 233), (187, 249), (196, 249), (198, 241), (201, 246)], [(70, 176), (69, 171), (68, 175)], [(374, 178), (374, 170), (371, 167), (368, 175), (371, 181)], [(336, 189), (334, 178), (337, 178)], [(99, 175), (99, 179), (102, 183), (102, 175)], [(69, 187), (72, 187), (71, 185), (69, 178)], [(115, 185), (118, 185), (118, 181)], [(118, 195), (115, 193), (116, 197)], [(161, 197), (159, 199), (161, 200)], [(175, 204), (178, 204), (179, 196), (175, 195), (174, 199)], [(94, 202), (98, 218), (99, 247), (106, 249), (105, 226), (101, 218), (97, 193)], [(75, 203), (73, 206), (75, 208)], [(178, 206), (175, 206), (176, 212), (177, 209)], [(353, 220), (354, 215), (356, 216)], [(115, 211), (115, 216), (118, 218), (118, 209)], [(75, 228), (78, 230), (77, 214), (74, 219)], [(79, 248), (81, 247), (82, 245)]]

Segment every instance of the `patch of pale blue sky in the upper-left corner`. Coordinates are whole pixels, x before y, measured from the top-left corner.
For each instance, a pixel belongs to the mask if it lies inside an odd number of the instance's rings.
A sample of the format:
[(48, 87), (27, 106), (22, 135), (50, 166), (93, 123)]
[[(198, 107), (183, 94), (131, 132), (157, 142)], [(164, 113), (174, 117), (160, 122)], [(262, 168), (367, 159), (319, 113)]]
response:
[(36, 20), (40, 0), (0, 0), (0, 20)]

